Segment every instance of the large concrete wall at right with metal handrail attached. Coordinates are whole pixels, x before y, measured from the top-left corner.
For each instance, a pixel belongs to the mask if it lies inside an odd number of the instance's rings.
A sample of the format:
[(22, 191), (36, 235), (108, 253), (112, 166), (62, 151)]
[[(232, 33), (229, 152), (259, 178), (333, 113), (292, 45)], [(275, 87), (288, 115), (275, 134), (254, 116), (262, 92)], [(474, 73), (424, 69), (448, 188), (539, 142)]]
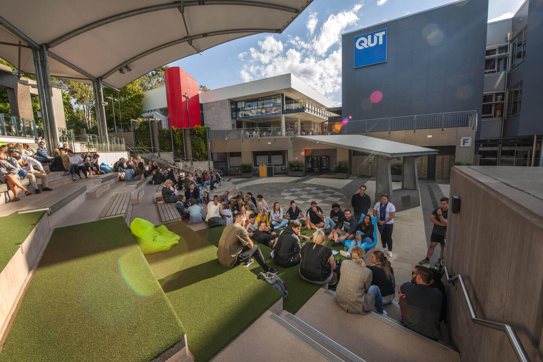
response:
[[(543, 360), (543, 169), (454, 167), (445, 265), (464, 277), (479, 318), (508, 323), (532, 361)], [(449, 287), (449, 328), (463, 362), (516, 361), (507, 336), (470, 321), (462, 291)]]

